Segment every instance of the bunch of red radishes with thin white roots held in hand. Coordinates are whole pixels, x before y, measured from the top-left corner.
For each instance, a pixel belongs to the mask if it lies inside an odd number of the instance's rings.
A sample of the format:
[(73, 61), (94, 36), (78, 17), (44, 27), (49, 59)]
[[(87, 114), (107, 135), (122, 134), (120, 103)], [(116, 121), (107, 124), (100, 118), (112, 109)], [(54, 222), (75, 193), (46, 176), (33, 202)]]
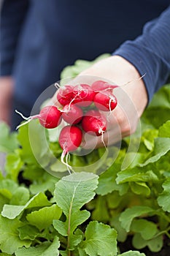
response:
[[(97, 80), (91, 86), (84, 83), (62, 86), (56, 94), (61, 108), (49, 105), (42, 108), (38, 115), (28, 118), (21, 113), (20, 115), (27, 120), (26, 123), (39, 118), (40, 124), (47, 129), (58, 127), (64, 121), (65, 125), (58, 139), (63, 149), (61, 161), (64, 162), (64, 157), (68, 157), (69, 152), (76, 150), (82, 143), (83, 132), (94, 136), (104, 135), (107, 118), (101, 111), (112, 111), (117, 106), (117, 99), (113, 94), (115, 87), (117, 86), (102, 80)], [(67, 160), (64, 163), (70, 167)]]

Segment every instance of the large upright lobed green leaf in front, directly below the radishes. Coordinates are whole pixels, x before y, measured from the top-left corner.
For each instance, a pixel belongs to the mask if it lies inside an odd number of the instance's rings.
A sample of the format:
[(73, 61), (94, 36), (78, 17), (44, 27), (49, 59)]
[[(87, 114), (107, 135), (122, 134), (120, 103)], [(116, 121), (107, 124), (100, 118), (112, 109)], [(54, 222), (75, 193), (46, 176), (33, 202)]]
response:
[[(93, 173), (73, 173), (63, 177), (55, 187), (54, 197), (58, 206), (66, 216), (63, 224), (55, 220), (53, 225), (59, 233), (69, 236), (69, 247), (80, 242), (81, 236), (75, 237), (74, 230), (82, 222), (85, 222), (90, 213), (87, 210), (80, 211), (80, 208), (93, 199), (98, 184), (98, 176)], [(64, 236), (64, 235), (63, 235)], [(77, 240), (78, 239), (78, 240)]]

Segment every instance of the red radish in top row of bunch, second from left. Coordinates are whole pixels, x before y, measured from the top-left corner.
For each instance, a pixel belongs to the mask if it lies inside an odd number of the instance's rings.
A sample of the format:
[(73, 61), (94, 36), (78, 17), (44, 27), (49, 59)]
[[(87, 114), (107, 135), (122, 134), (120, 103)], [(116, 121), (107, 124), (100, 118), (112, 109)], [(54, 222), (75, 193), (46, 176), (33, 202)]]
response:
[(88, 107), (93, 102), (95, 92), (88, 84), (80, 84), (74, 86), (74, 103), (78, 103), (81, 107)]

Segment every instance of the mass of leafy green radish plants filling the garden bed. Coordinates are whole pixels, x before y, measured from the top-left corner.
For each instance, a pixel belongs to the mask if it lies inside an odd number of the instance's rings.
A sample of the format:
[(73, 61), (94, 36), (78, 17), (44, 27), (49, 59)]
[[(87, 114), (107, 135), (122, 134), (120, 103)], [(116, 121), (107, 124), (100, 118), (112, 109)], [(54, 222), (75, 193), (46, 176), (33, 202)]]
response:
[[(62, 78), (91, 64), (76, 61)], [(0, 151), (7, 154), (0, 255), (144, 256), (139, 251), (146, 246), (161, 253), (170, 239), (169, 98), (170, 86), (163, 86), (144, 111), (141, 135), (125, 138), (120, 149), (110, 147), (103, 159), (104, 149), (71, 156), (71, 175), (59, 161), (55, 129), (32, 121), (11, 133), (0, 124)], [(106, 171), (98, 175), (101, 167)], [(128, 236), (139, 251), (117, 248)]]

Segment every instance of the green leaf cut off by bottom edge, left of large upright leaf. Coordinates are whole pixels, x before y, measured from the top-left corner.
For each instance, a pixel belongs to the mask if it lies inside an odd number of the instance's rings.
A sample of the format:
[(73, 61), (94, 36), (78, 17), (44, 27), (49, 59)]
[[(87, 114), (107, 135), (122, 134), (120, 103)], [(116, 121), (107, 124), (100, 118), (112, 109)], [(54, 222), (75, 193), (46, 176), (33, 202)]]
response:
[(60, 242), (57, 236), (55, 236), (53, 243), (44, 242), (38, 246), (30, 247), (28, 249), (21, 248), (15, 252), (16, 256), (59, 256), (58, 248), (60, 246)]

